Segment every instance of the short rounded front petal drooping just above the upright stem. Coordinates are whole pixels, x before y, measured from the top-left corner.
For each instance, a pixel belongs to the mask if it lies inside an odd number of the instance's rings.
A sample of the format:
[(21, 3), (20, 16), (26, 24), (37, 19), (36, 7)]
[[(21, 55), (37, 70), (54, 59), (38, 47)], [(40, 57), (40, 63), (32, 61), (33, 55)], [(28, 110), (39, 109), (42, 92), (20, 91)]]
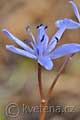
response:
[(53, 62), (49, 57), (42, 57), (38, 59), (38, 63), (42, 65), (45, 69), (51, 70), (53, 68)]

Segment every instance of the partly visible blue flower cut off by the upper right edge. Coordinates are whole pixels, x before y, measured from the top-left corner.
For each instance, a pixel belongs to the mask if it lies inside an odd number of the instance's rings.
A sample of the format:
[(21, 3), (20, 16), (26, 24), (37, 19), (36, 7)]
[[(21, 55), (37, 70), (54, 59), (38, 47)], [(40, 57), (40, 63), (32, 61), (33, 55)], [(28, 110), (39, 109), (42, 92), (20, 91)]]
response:
[(72, 19), (68, 19), (68, 18), (57, 20), (55, 24), (58, 28), (60, 28), (62, 25), (65, 25), (66, 29), (80, 28), (80, 13), (78, 11), (78, 8), (73, 1), (69, 1), (69, 3), (72, 5), (73, 11), (78, 19), (78, 22), (73, 21)]

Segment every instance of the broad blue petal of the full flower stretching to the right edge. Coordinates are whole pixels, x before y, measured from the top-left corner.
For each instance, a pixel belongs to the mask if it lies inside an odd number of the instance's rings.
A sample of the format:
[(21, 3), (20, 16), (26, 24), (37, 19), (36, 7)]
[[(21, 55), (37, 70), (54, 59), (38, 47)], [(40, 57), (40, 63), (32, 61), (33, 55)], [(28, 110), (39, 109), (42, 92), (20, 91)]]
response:
[(60, 47), (56, 48), (50, 55), (49, 57), (51, 59), (56, 59), (63, 57), (65, 55), (73, 54), (76, 52), (80, 52), (80, 44), (64, 44), (61, 45)]

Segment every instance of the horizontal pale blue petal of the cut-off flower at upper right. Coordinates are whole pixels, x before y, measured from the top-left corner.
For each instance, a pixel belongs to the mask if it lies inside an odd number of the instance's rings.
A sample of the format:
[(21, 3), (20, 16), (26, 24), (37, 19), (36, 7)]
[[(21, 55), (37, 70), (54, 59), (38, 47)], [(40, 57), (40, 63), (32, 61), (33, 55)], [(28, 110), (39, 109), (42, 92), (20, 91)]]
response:
[(75, 22), (75, 21), (73, 21), (71, 19), (67, 19), (67, 18), (61, 19), (61, 20), (57, 20), (55, 22), (55, 24), (56, 24), (56, 26), (58, 28), (60, 28), (61, 26), (64, 26), (64, 25), (65, 25), (66, 29), (77, 29), (77, 28), (80, 28), (80, 23)]

